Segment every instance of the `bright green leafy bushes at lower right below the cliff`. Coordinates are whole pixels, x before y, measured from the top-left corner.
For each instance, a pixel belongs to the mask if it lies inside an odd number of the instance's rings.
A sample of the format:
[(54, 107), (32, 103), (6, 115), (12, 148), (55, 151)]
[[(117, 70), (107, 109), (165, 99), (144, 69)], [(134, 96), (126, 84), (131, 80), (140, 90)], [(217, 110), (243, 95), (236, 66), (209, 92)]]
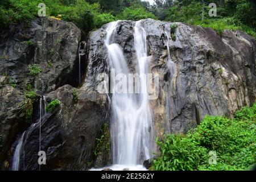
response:
[[(256, 104), (237, 111), (234, 119), (207, 116), (187, 135), (157, 140), (160, 156), (155, 170), (246, 170), (256, 162)], [(209, 164), (209, 152), (217, 164)]]

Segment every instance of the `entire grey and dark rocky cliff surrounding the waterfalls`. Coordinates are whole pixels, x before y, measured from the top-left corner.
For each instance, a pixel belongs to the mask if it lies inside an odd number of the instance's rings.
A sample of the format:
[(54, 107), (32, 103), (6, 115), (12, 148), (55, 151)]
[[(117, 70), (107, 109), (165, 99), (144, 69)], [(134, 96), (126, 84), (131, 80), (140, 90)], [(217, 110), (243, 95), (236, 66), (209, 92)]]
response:
[[(122, 47), (131, 73), (138, 69), (134, 62), (134, 23), (118, 22), (112, 38)], [(237, 109), (253, 104), (256, 95), (253, 37), (228, 30), (220, 36), (209, 28), (173, 24), (142, 20), (151, 56), (150, 72), (159, 74), (159, 97), (150, 103), (158, 137), (170, 132), (185, 133), (207, 114), (233, 117)], [(17, 139), (26, 130), (29, 132), (25, 132), (19, 169), (39, 169), (39, 101), (34, 103), (32, 122), (27, 123), (24, 94), (31, 87), (28, 85), (46, 96), (48, 103), (61, 101), (59, 107), (42, 118), (41, 147), (47, 152), (47, 165), (42, 169), (83, 170), (94, 165), (96, 138), (104, 123), (109, 122), (107, 96), (97, 92), (101, 82), (98, 75), (108, 72), (105, 28), (89, 35), (80, 86), (77, 52), (81, 33), (75, 24), (43, 18), (35, 20), (31, 27), (15, 26), (1, 32), (2, 169), (11, 169)], [(168, 68), (167, 46), (174, 71)], [(34, 64), (42, 68), (38, 75), (30, 74), (29, 65)], [(74, 93), (73, 87), (77, 86)], [(32, 123), (35, 127), (30, 129)], [(100, 159), (97, 166), (108, 162)]]

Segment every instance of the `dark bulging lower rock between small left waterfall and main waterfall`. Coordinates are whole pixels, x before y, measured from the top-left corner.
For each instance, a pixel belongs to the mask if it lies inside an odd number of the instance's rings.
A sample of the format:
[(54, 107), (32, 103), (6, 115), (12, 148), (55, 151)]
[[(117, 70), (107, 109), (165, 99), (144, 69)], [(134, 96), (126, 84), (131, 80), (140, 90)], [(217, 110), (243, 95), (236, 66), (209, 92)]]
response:
[[(86, 98), (84, 90), (77, 90), (73, 98), (72, 86), (49, 93), (47, 101), (61, 101), (60, 107), (42, 118), (41, 150), (46, 151), (47, 165), (42, 170), (86, 170), (92, 166), (95, 140), (105, 122), (105, 104)], [(39, 123), (27, 130), (20, 170), (38, 170)]]

